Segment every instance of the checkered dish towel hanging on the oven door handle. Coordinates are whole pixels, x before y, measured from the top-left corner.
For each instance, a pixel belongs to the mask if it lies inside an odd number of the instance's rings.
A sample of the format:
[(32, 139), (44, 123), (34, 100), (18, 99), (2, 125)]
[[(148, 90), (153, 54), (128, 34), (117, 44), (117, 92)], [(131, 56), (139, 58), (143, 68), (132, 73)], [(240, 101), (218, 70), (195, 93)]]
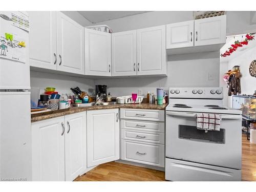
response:
[(221, 117), (219, 114), (198, 113), (197, 129), (206, 131), (220, 131)]

